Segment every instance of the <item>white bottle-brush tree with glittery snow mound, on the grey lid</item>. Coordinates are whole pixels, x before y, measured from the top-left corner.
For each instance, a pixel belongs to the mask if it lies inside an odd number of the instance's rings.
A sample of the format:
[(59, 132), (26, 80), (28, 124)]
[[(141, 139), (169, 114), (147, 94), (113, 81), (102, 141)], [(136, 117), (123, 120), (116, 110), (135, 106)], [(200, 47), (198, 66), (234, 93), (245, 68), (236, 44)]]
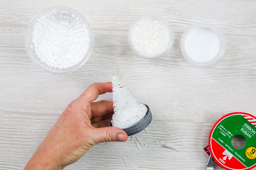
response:
[(114, 76), (112, 77), (114, 114), (112, 125), (118, 128), (128, 128), (145, 117), (148, 109), (138, 103), (124, 85)]

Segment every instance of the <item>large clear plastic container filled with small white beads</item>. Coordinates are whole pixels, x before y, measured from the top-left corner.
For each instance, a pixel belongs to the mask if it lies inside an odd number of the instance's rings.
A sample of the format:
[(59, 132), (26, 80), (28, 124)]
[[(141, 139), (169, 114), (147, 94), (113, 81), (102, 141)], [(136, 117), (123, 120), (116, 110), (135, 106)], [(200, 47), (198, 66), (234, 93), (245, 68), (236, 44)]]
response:
[[(43, 26), (38, 24), (39, 21), (43, 21)], [(56, 28), (50, 28), (52, 25), (47, 23), (55, 24)], [(35, 38), (35, 34), (39, 36)], [(93, 44), (94, 36), (88, 21), (78, 11), (65, 6), (39, 12), (28, 24), (25, 35), (30, 59), (39, 68), (54, 74), (71, 73), (80, 68), (89, 59)]]

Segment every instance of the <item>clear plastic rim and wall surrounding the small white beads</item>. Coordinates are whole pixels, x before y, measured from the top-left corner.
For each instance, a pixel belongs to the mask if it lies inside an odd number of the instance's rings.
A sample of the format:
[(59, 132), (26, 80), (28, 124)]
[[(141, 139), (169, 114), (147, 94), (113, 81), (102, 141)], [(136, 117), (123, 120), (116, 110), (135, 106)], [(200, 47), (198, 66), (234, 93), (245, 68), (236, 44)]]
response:
[[(64, 10), (64, 11), (73, 13), (76, 16), (79, 16), (89, 32), (88, 34), (89, 34), (89, 38), (90, 38), (90, 44), (89, 44), (89, 49), (88, 49), (88, 52), (86, 53), (86, 56), (76, 66), (70, 67), (68, 69), (58, 69), (58, 68), (52, 68), (52, 67), (47, 66), (46, 63), (41, 62), (40, 59), (36, 56), (34, 48), (30, 48), (30, 45), (33, 45), (32, 32), (33, 32), (33, 27), (34, 27), (37, 19), (53, 10), (56, 10), (56, 11)], [(25, 46), (26, 46), (26, 50), (27, 50), (27, 53), (28, 53), (28, 56), (30, 57), (30, 59), (33, 61), (34, 64), (36, 64), (42, 70), (44, 70), (48, 73), (54, 73), (54, 74), (71, 73), (71, 72), (74, 72), (75, 70), (77, 70), (78, 68), (80, 68), (89, 59), (92, 49), (93, 49), (93, 44), (94, 44), (94, 36), (93, 36), (92, 29), (91, 29), (88, 21), (78, 11), (76, 11), (72, 8), (69, 8), (69, 7), (65, 7), (65, 6), (49, 7), (47, 9), (39, 12), (36, 16), (34, 16), (34, 18), (28, 24), (28, 27), (26, 30), (26, 35), (25, 35)]]

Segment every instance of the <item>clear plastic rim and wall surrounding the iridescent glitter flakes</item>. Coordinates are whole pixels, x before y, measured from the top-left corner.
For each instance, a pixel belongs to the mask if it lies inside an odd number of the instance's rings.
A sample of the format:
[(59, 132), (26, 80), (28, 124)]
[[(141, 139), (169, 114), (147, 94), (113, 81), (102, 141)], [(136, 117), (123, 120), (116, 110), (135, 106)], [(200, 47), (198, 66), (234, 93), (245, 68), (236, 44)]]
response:
[[(147, 18), (155, 19), (155, 21), (158, 20), (158, 21), (165, 23), (164, 28), (169, 29), (169, 33), (170, 33), (170, 41), (168, 44), (166, 43), (165, 50), (160, 55), (157, 55), (155, 57), (146, 57), (146, 56), (142, 55), (142, 53), (139, 53), (138, 50), (136, 49), (136, 47), (133, 46), (133, 42), (132, 42), (133, 41), (132, 39), (134, 36), (134, 35), (132, 35), (132, 31), (134, 29), (134, 26), (136, 26), (137, 23), (142, 23), (142, 22), (146, 21), (145, 19), (147, 19)], [(129, 45), (130, 45), (131, 49), (138, 56), (140, 56), (142, 58), (146, 58), (146, 59), (157, 59), (157, 58), (164, 56), (166, 54), (166, 52), (170, 50), (170, 48), (174, 42), (174, 30), (172, 29), (170, 22), (166, 18), (164, 18), (158, 14), (155, 14), (155, 13), (148, 13), (148, 14), (142, 15), (142, 16), (138, 17), (137, 19), (135, 19), (135, 21), (133, 22), (133, 24), (130, 26), (130, 29), (129, 29), (128, 41), (129, 41)], [(148, 51), (148, 52), (150, 52), (150, 51)]]

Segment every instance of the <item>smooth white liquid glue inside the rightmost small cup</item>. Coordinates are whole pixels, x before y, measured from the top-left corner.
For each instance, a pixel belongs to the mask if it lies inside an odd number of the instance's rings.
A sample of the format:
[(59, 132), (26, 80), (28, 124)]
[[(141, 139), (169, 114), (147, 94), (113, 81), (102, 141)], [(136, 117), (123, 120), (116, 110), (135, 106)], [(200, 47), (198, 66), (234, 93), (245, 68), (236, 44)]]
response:
[(197, 63), (207, 63), (214, 60), (220, 50), (218, 35), (205, 27), (191, 29), (184, 42), (184, 51), (187, 57)]

